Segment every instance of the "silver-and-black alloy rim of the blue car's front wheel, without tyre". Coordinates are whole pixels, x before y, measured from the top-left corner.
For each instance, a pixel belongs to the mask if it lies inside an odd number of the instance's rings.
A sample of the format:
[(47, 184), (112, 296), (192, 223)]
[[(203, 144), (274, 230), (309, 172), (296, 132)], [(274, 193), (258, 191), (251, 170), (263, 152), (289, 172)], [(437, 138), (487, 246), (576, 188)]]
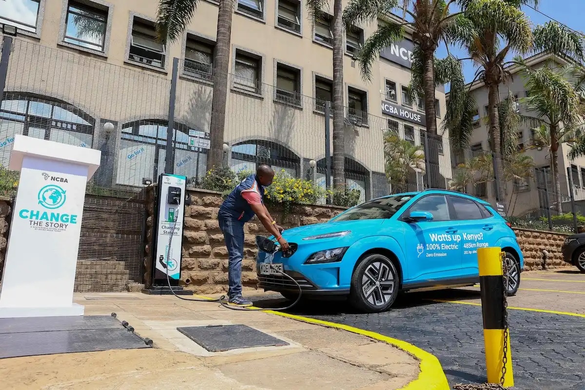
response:
[(388, 302), (394, 292), (394, 274), (383, 261), (374, 261), (367, 266), (362, 276), (362, 293), (366, 301), (374, 306)]

